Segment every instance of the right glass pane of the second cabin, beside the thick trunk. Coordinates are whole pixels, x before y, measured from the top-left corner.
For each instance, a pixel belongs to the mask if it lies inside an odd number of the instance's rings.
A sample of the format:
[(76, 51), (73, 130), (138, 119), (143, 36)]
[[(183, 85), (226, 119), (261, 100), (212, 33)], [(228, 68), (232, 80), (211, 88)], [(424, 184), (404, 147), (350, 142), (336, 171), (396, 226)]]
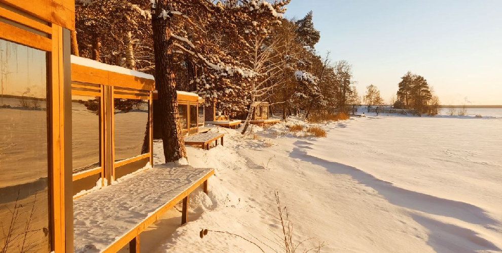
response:
[(148, 153), (148, 100), (117, 98), (114, 104), (115, 161)]

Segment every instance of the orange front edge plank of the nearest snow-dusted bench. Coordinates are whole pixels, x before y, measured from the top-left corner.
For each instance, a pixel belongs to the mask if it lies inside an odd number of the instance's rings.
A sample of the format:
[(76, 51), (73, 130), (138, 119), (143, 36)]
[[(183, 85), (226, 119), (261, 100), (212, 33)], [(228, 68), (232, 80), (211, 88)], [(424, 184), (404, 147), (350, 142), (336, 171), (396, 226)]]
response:
[(182, 194), (178, 195), (172, 201), (166, 203), (165, 205), (163, 205), (162, 207), (157, 209), (156, 212), (153, 213), (149, 218), (145, 219), (145, 221), (142, 222), (141, 224), (138, 224), (135, 228), (133, 228), (131, 231), (129, 231), (126, 235), (124, 235), (122, 238), (118, 239), (113, 245), (104, 249), (102, 251), (102, 253), (115, 253), (115, 252), (119, 251), (123, 246), (125, 246), (129, 241), (131, 241), (132, 238), (138, 236), (139, 233), (145, 231), (150, 225), (152, 225), (157, 220), (161, 219), (162, 215), (164, 215), (169, 209), (174, 207), (174, 205), (176, 205), (177, 203), (182, 201), (186, 196), (188, 196), (191, 192), (193, 192), (197, 187), (199, 187), (204, 181), (206, 181), (212, 175), (214, 175), (214, 170), (207, 173), (206, 176), (201, 178), (199, 181), (197, 181), (195, 184), (193, 184), (191, 187), (189, 187)]

